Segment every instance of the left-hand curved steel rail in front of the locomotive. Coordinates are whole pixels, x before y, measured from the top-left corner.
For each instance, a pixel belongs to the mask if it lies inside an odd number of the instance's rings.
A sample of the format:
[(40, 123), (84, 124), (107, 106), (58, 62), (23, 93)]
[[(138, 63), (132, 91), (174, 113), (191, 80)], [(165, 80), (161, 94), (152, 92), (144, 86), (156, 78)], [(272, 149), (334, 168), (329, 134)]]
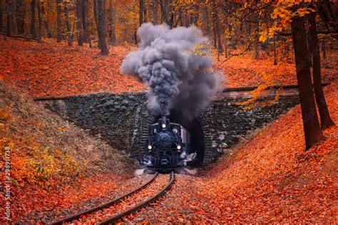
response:
[(139, 192), (141, 189), (144, 189), (145, 187), (147, 187), (149, 184), (153, 183), (155, 178), (158, 176), (158, 172), (155, 173), (155, 175), (153, 176), (152, 179), (150, 179), (148, 182), (146, 182), (145, 184), (141, 185), (140, 187), (136, 188), (136, 189), (133, 189), (133, 191), (131, 192), (128, 192), (127, 194), (124, 194), (123, 196), (121, 197), (118, 197), (116, 199), (113, 199), (111, 202), (107, 202), (105, 204), (101, 204), (100, 206), (96, 206), (92, 209), (88, 209), (86, 211), (82, 211), (78, 214), (75, 214), (73, 216), (69, 216), (67, 218), (64, 218), (64, 219), (60, 219), (58, 221), (55, 221), (55, 222), (52, 222), (51, 225), (61, 225), (63, 223), (66, 223), (66, 222), (70, 222), (70, 221), (73, 221), (74, 219), (78, 219), (80, 216), (83, 216), (83, 215), (86, 215), (86, 214), (90, 214), (91, 212), (93, 211), (98, 211), (100, 209), (104, 209), (108, 206), (111, 206), (111, 205), (114, 205), (114, 204), (118, 204), (119, 202), (122, 201), (122, 199), (125, 199), (126, 197), (129, 197), (130, 195), (132, 194), (135, 194), (135, 192)]

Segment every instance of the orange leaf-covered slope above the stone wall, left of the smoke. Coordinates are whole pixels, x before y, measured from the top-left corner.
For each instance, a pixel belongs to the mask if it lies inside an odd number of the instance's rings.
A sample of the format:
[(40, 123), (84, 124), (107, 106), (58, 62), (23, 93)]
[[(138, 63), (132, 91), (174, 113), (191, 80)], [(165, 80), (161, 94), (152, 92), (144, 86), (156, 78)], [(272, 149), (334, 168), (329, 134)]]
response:
[(102, 57), (96, 48), (0, 38), (0, 79), (36, 97), (145, 90), (134, 78), (120, 75), (129, 51), (118, 46)]

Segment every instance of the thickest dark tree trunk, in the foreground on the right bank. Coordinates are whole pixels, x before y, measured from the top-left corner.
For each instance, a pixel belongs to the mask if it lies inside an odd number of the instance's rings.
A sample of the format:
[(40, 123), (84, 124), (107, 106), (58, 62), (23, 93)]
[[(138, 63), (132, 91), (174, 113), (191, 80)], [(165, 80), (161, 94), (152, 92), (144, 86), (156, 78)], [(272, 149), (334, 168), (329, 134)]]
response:
[(295, 61), (297, 68), (297, 83), (299, 101), (302, 108), (302, 121), (304, 127), (305, 146), (308, 150), (314, 143), (323, 139), (322, 130), (319, 127), (317, 110), (314, 104), (312, 91), (311, 72), (309, 68), (307, 38), (304, 25), (304, 16), (295, 17), (291, 22), (292, 40), (295, 48)]

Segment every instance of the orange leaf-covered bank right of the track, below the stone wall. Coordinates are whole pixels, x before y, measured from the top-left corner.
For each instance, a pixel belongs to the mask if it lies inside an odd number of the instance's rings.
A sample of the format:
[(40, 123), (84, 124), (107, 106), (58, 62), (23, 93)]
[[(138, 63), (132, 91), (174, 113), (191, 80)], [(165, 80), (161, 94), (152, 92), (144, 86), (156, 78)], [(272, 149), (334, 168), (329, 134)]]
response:
[[(338, 85), (326, 88), (338, 122)], [(299, 105), (234, 148), (203, 177), (177, 175), (168, 197), (128, 221), (150, 223), (337, 222), (338, 126), (304, 152)]]

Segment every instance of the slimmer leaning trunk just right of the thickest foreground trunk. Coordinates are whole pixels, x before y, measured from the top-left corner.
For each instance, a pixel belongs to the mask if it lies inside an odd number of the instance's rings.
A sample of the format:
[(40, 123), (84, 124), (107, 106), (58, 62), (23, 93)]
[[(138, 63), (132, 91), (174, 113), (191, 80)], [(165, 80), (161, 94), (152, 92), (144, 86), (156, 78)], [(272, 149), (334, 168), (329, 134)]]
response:
[(321, 127), (322, 129), (325, 129), (329, 126), (334, 125), (334, 122), (329, 115), (329, 110), (327, 109), (327, 102), (325, 100), (322, 88), (319, 40), (314, 13), (309, 15), (309, 33), (311, 37), (311, 49), (312, 49), (314, 96), (316, 97), (316, 103), (319, 110)]

